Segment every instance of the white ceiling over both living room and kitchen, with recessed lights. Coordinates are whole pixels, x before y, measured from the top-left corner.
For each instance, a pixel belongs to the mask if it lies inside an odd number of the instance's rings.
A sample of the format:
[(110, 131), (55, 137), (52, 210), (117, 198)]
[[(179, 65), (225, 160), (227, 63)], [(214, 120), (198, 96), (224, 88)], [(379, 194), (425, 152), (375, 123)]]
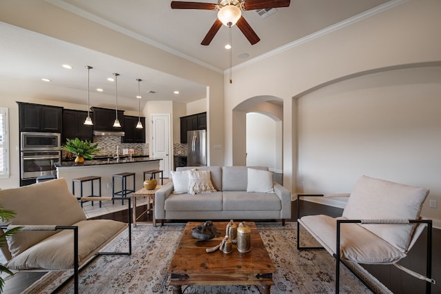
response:
[[(43, 0), (34, 0), (43, 1)], [(216, 3), (210, 0), (198, 2)], [(237, 27), (232, 28), (232, 66), (252, 62), (272, 50), (296, 40), (323, 32), (338, 24), (370, 15), (390, 3), (386, 0), (291, 0), (289, 8), (277, 8), (266, 19), (255, 10), (243, 12), (243, 17), (260, 37), (260, 42), (250, 45)], [(216, 11), (172, 10), (171, 1), (165, 0), (45, 0), (81, 17), (153, 46), (172, 52), (218, 72), (229, 68), (229, 51), (224, 46), (229, 41), (229, 28), (223, 26), (209, 46), (201, 41), (216, 20)], [(384, 4), (385, 3), (385, 4)], [(0, 10), (2, 4), (0, 3)], [(1, 21), (1, 19), (0, 19)], [(100, 101), (99, 106), (114, 104), (115, 85), (105, 79), (112, 72), (119, 72), (118, 92), (121, 109), (137, 110), (134, 99), (138, 95), (136, 78), (141, 78), (142, 105), (147, 100), (174, 100), (188, 103), (205, 98), (204, 85), (172, 77), (163, 72), (145, 68), (139, 64), (104, 55), (72, 43), (60, 41), (35, 32), (0, 23), (0, 75), (29, 83), (32, 91), (47, 100), (60, 100), (84, 104), (87, 90), (87, 70), (90, 72), (91, 99)], [(240, 58), (247, 54), (249, 57)], [(61, 67), (68, 63), (72, 70)], [(44, 83), (41, 78), (52, 81)], [(50, 84), (50, 86), (48, 86)], [(60, 95), (68, 88), (70, 95)], [(97, 94), (95, 89), (103, 88)], [(147, 93), (149, 90), (156, 94)], [(179, 90), (180, 94), (173, 94)], [(77, 93), (77, 94), (72, 94)], [(37, 94), (35, 94), (37, 95)], [(113, 97), (113, 98), (111, 98)], [(120, 98), (119, 98), (120, 101)], [(136, 101), (136, 100), (135, 100)], [(136, 101), (137, 102), (137, 101)], [(119, 102), (120, 103), (120, 102)], [(95, 106), (98, 106), (95, 104)]]

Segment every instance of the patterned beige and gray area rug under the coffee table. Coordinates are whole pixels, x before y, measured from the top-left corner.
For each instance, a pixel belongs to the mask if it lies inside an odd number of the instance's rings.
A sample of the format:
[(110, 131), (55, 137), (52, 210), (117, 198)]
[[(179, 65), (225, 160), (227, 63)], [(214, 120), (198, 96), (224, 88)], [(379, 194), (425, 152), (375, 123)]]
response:
[[(298, 251), (296, 223), (258, 223), (258, 230), (267, 246), (276, 273), (271, 293), (334, 293), (335, 259), (327, 251)], [(178, 245), (184, 224), (154, 227), (139, 225), (132, 230), (132, 255), (101, 255), (80, 274), (80, 293), (172, 293), (168, 286), (167, 267)], [(314, 238), (302, 231), (302, 243), (317, 245)], [(125, 251), (127, 231), (107, 245), (105, 251)], [(191, 258), (191, 257), (189, 257)], [(353, 268), (364, 275), (378, 293), (390, 293), (361, 266)], [(67, 280), (72, 271), (50, 272), (25, 293), (52, 293)], [(260, 293), (254, 286), (191, 286), (184, 293)], [(59, 293), (74, 293), (73, 282)], [(340, 273), (340, 293), (371, 293), (345, 266)]]

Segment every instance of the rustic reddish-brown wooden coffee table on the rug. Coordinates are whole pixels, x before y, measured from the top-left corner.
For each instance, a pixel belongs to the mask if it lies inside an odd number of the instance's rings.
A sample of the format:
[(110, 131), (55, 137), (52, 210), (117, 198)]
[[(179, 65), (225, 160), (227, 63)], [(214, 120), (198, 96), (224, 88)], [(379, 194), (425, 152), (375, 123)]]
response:
[(191, 229), (198, 224), (201, 222), (187, 223), (167, 270), (172, 276), (173, 293), (181, 294), (183, 285), (254, 285), (263, 286), (263, 293), (269, 294), (275, 268), (254, 222), (246, 223), (251, 228), (251, 251), (239, 253), (233, 244), (233, 251), (228, 254), (205, 252), (206, 248), (220, 244), (228, 223), (215, 222), (220, 237), (207, 241), (192, 237)]

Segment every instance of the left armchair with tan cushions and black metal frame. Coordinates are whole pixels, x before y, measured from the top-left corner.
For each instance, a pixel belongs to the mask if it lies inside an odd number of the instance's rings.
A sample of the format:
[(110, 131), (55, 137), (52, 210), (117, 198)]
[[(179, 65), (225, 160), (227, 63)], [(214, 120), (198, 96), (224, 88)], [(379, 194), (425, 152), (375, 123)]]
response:
[[(105, 201), (112, 197), (94, 197)], [(125, 198), (127, 199), (127, 198)], [(21, 231), (8, 237), (8, 247), (1, 251), (12, 270), (74, 269), (74, 291), (79, 293), (79, 269), (102, 254), (131, 255), (132, 213), (130, 198), (128, 223), (111, 219), (87, 220), (76, 197), (68, 190), (65, 179), (0, 190), (0, 203), (17, 214), (1, 230), (22, 226)], [(104, 253), (101, 248), (112, 241), (128, 225), (127, 252)]]

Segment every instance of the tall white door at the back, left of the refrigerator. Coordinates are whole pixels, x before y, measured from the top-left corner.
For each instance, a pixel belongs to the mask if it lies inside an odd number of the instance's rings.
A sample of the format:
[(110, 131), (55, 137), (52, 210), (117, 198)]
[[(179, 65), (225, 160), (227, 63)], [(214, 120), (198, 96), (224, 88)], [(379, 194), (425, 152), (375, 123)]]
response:
[(163, 177), (170, 177), (170, 115), (152, 115), (152, 157), (161, 158)]

